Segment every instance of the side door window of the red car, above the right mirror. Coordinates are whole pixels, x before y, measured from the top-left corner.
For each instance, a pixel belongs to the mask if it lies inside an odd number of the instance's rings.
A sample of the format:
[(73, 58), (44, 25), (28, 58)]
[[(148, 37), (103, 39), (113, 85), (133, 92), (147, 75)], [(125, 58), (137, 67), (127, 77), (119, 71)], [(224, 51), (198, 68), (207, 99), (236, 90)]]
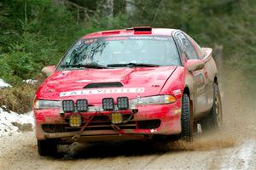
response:
[(196, 53), (195, 48), (182, 32), (177, 34), (177, 42), (188, 59), (198, 59), (198, 54)]

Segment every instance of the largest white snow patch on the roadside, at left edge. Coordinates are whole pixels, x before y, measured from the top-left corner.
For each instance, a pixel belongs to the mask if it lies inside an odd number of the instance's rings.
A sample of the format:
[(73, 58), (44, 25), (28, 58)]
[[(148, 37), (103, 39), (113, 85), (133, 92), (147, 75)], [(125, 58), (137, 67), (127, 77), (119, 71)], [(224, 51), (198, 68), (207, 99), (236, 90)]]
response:
[(5, 106), (0, 107), (0, 137), (31, 131), (34, 126), (32, 111), (26, 114), (18, 114), (8, 111)]

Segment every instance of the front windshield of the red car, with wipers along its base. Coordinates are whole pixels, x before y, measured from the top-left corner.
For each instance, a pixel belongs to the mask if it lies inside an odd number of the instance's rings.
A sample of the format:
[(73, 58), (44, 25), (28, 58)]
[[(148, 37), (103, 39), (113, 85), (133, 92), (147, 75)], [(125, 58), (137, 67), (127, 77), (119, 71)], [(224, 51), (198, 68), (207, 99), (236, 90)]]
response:
[(97, 37), (76, 42), (58, 70), (165, 65), (180, 65), (172, 37)]

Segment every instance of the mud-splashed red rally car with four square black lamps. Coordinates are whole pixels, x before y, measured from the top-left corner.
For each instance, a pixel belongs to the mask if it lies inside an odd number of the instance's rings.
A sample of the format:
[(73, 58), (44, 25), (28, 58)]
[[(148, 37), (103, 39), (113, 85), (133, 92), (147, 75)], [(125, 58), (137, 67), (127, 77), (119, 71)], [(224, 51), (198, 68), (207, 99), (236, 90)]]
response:
[(222, 124), (212, 48), (180, 30), (132, 27), (80, 38), (38, 88), (38, 152), (74, 141), (192, 139)]

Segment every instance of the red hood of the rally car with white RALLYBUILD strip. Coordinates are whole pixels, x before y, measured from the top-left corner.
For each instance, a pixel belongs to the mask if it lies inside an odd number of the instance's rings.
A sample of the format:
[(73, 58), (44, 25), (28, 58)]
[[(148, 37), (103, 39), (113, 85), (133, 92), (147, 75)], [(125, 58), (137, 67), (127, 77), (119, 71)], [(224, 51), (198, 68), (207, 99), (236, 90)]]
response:
[[(137, 98), (160, 94), (177, 66), (135, 67), (55, 71), (38, 89), (37, 99), (90, 99), (127, 96)], [(84, 88), (91, 83), (117, 82), (122, 87)]]

